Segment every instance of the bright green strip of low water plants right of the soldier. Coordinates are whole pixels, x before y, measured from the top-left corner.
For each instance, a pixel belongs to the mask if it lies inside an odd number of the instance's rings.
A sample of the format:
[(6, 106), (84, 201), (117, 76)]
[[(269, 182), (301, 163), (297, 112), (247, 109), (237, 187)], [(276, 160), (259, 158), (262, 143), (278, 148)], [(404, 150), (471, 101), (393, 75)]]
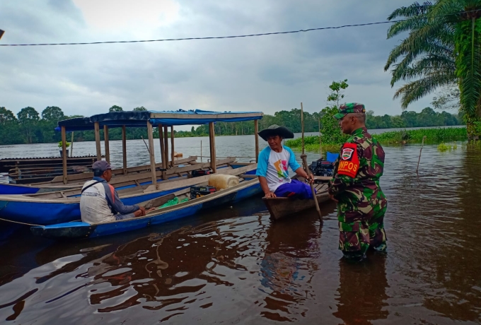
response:
[(390, 131), (382, 134), (375, 134), (374, 137), (381, 144), (390, 143), (421, 143), (426, 136), (425, 143), (439, 143), (444, 141), (463, 141), (468, 138), (465, 128), (435, 128)]

